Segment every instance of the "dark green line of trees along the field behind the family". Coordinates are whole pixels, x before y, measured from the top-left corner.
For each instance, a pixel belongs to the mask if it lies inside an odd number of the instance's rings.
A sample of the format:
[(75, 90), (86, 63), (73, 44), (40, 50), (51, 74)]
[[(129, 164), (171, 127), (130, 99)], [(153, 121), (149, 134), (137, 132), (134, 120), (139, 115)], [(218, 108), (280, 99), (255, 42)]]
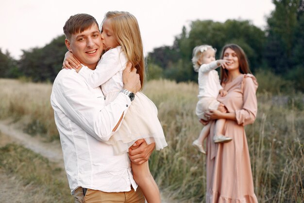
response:
[[(249, 20), (195, 20), (183, 27), (171, 46), (153, 49), (147, 55), (147, 78), (196, 81), (191, 58), (195, 46), (209, 44), (220, 57), (221, 48), (236, 43), (248, 56), (252, 72), (268, 70), (292, 81), (304, 92), (304, 0), (273, 0), (275, 9), (262, 30)], [(42, 48), (22, 50), (19, 60), (0, 50), (0, 77), (25, 76), (32, 81), (53, 81), (61, 70), (67, 48), (65, 36), (54, 38)]]

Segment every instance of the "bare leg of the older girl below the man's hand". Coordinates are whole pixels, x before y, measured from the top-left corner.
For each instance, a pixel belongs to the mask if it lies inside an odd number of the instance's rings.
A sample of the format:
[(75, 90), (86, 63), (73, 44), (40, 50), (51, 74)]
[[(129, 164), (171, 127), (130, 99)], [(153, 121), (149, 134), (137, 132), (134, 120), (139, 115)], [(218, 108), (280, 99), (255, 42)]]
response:
[(161, 203), (159, 189), (151, 175), (148, 161), (141, 165), (135, 165), (131, 162), (131, 166), (133, 178), (143, 191), (147, 202)]

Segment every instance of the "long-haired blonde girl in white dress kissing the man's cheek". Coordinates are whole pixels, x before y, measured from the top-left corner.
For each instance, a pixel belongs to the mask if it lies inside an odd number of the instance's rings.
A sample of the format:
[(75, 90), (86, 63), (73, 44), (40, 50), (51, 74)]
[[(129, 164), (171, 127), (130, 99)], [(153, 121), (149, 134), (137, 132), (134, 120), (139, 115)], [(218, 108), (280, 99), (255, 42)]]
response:
[[(130, 61), (139, 74), (141, 87), (144, 82), (145, 61), (139, 26), (136, 18), (128, 12), (108, 12), (102, 21), (101, 39), (105, 54), (102, 55), (96, 69), (87, 67), (75, 69), (87, 83), (96, 88), (101, 85), (106, 104), (112, 102), (123, 90), (122, 71)], [(72, 60), (72, 54), (67, 54), (65, 60)], [(77, 61), (75, 61), (77, 63)], [(160, 150), (167, 146), (162, 126), (157, 118), (154, 103), (142, 92), (137, 92), (135, 98), (130, 97), (132, 104), (121, 122), (120, 128), (107, 142), (113, 145), (114, 152), (125, 153), (136, 140), (145, 139), (148, 144), (155, 142)], [(150, 173), (148, 162), (141, 165), (131, 163), (135, 182), (142, 189), (148, 203), (160, 203), (158, 187)]]

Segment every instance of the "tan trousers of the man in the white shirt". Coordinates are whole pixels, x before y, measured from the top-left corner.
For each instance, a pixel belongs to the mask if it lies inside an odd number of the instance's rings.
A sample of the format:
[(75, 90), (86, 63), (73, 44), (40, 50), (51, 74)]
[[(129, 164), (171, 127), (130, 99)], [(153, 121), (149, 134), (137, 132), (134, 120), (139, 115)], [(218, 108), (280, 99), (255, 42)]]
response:
[(145, 203), (140, 187), (137, 187), (136, 192), (133, 188), (129, 192), (102, 192), (87, 189), (85, 196), (83, 188), (78, 187), (73, 196), (75, 203)]

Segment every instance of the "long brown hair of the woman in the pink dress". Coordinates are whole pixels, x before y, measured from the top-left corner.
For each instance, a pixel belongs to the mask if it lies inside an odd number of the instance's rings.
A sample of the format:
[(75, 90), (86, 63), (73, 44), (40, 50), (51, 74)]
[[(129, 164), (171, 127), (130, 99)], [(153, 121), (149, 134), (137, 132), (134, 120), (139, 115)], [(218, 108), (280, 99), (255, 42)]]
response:
[[(240, 73), (241, 74), (251, 74), (247, 56), (246, 56), (245, 52), (243, 51), (243, 49), (236, 44), (225, 45), (221, 51), (220, 59), (224, 58), (224, 53), (225, 53), (226, 49), (228, 49), (228, 48), (230, 48), (236, 52)], [(226, 82), (227, 79), (228, 79), (228, 71), (226, 69), (223, 69), (222, 67), (220, 67), (220, 83)]]

